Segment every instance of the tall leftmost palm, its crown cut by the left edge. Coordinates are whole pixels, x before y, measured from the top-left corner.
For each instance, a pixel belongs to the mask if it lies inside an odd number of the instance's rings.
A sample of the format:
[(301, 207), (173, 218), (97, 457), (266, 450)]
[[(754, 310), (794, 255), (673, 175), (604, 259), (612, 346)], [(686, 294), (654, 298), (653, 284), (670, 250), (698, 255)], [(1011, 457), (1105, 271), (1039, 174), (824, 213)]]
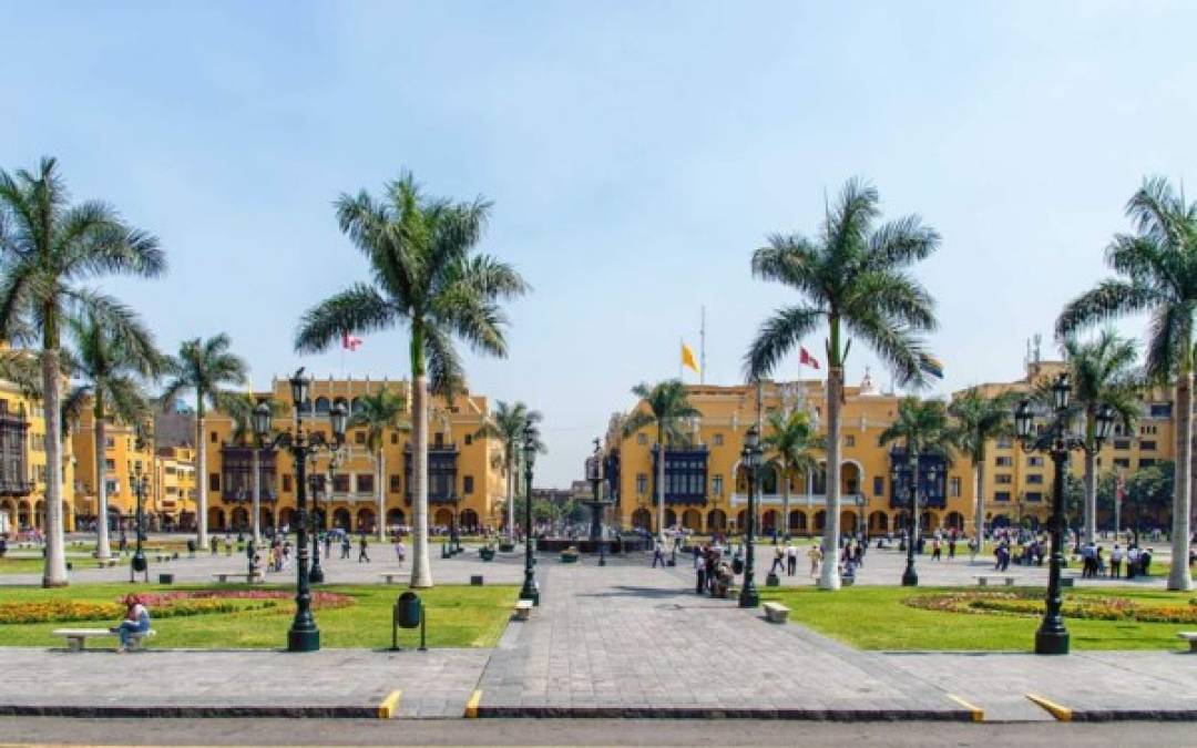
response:
[(53, 158), (43, 158), (36, 174), (0, 170), (0, 339), (30, 345), (40, 340), (42, 347), (44, 586), (67, 584), (59, 360), (62, 327), (71, 316), (89, 315), (114, 339), (128, 341), (135, 315), (115, 298), (81, 284), (103, 275), (152, 278), (165, 269), (158, 239), (129, 227), (111, 206), (101, 201), (69, 205)]

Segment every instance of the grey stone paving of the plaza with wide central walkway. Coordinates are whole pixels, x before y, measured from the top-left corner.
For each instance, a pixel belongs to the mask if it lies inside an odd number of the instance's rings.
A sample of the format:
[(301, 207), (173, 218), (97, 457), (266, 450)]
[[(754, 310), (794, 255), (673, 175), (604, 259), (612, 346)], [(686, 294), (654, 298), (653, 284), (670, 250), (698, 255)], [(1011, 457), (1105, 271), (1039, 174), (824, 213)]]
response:
[[(327, 560), (330, 582), (378, 584), (401, 571), (388, 546), (371, 564)], [(439, 551), (439, 548), (438, 548)], [(760, 580), (772, 547), (759, 549)], [(186, 557), (186, 554), (183, 554)], [(522, 580), (522, 554), (482, 562), (468, 549), (432, 560), (438, 584)], [(606, 567), (584, 557), (543, 554), (543, 603), (529, 621), (508, 624), (494, 649), (162, 650), (119, 656), (40, 647), (0, 649), (0, 713), (57, 716), (309, 717), (705, 717), (819, 720), (1009, 720), (1057, 718), (1197, 719), (1197, 657), (1181, 652), (1021, 653), (865, 652), (804, 626), (773, 625), (760, 610), (693, 592), (688, 557), (651, 568), (646, 555)], [(803, 559), (804, 561), (804, 559)], [(894, 584), (904, 557), (869, 552), (859, 584)], [(127, 582), (128, 568), (84, 564), (77, 583)], [(200, 554), (153, 565), (178, 582), (238, 571), (244, 558)], [(967, 557), (919, 560), (924, 585), (970, 585), (990, 568)], [(800, 566), (783, 583), (813, 584)], [(1011, 567), (1020, 584), (1046, 571)], [(28, 578), (26, 578), (28, 577)], [(274, 583), (293, 576), (272, 574)], [(4, 584), (36, 583), (12, 574)], [(1080, 583), (1080, 582), (1078, 582)], [(1105, 580), (1099, 582), (1105, 584)], [(1125, 582), (1124, 582), (1125, 583)], [(1088, 584), (1088, 582), (1086, 582)], [(1129, 584), (1157, 584), (1157, 580)], [(396, 595), (401, 590), (396, 586)], [(0, 590), (2, 595), (2, 590)], [(845, 625), (850, 625), (845, 622)], [(1028, 632), (1033, 626), (1028, 622)], [(281, 639), (280, 631), (280, 639)], [(35, 675), (36, 674), (36, 675)], [(1038, 700), (1032, 700), (1032, 697)], [(1056, 709), (1056, 707), (1059, 709)]]

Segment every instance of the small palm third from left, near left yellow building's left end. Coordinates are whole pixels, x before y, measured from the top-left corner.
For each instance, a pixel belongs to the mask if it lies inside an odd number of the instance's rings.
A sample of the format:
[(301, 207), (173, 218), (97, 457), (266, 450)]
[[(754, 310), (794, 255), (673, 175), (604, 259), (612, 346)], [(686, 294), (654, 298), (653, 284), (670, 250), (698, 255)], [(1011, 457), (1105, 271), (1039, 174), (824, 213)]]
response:
[(230, 345), (224, 333), (207, 340), (184, 340), (178, 355), (166, 360), (170, 379), (162, 393), (164, 405), (172, 403), (183, 393), (195, 393), (195, 479), (200, 485), (195, 529), (201, 548), (208, 545), (208, 448), (203, 438), (203, 413), (208, 406), (219, 409), (227, 403), (233, 393), (225, 388), (245, 384), (249, 369), (244, 359), (229, 352)]

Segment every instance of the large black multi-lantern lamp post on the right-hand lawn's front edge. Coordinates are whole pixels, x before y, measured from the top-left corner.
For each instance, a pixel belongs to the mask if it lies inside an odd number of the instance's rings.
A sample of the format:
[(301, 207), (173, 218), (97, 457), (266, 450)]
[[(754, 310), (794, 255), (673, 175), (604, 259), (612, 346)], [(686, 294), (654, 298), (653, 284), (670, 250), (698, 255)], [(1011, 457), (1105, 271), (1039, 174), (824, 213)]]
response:
[[(1074, 449), (1090, 449), (1083, 436), (1077, 436), (1069, 430), (1068, 401), (1073, 387), (1068, 381), (1068, 373), (1061, 373), (1052, 384), (1052, 406), (1055, 412), (1052, 420), (1046, 428), (1035, 430), (1035, 413), (1029, 400), (1021, 401), (1014, 408), (1014, 428), (1023, 451), (1040, 451), (1051, 455), (1056, 467), (1052, 478), (1051, 518), (1047, 521), (1047, 531), (1051, 534), (1051, 565), (1047, 572), (1047, 606), (1044, 612), (1043, 624), (1035, 632), (1035, 655), (1067, 655), (1068, 653), (1068, 630), (1064, 628), (1064, 615), (1061, 609), (1064, 606), (1063, 591), (1061, 589), (1061, 570), (1064, 566), (1064, 528), (1067, 518), (1064, 515), (1064, 476), (1068, 468), (1068, 455)], [(1101, 448), (1101, 443), (1110, 438), (1114, 427), (1114, 411), (1108, 405), (1098, 408), (1096, 430), (1092, 449)]]

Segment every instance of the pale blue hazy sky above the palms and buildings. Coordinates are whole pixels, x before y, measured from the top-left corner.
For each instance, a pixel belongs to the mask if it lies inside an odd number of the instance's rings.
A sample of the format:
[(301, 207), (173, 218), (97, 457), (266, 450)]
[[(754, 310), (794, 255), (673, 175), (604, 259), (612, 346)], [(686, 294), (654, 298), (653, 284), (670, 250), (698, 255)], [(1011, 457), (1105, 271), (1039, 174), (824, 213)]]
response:
[[(165, 351), (227, 333), (255, 385), (409, 373), (403, 329), (292, 349), (304, 310), (367, 279), (338, 195), (402, 170), (485, 195), (480, 249), (534, 291), (508, 305), (506, 359), (467, 353), (469, 385), (543, 413), (536, 484), (567, 486), (630, 388), (678, 376), (703, 306), (707, 383), (742, 381), (797, 300), (752, 251), (816, 232), (852, 176), (942, 235), (913, 270), (937, 302), (931, 394), (1021, 376), (1037, 333), (1053, 355), (1143, 177), (1197, 175), (1193, 28), (1197, 5), (1157, 0), (0, 0), (0, 168), (53, 154), (74, 197), (158, 236), (165, 278), (92, 285)], [(853, 346), (849, 382), (865, 366), (888, 382)], [(795, 354), (777, 376), (796, 375)]]

